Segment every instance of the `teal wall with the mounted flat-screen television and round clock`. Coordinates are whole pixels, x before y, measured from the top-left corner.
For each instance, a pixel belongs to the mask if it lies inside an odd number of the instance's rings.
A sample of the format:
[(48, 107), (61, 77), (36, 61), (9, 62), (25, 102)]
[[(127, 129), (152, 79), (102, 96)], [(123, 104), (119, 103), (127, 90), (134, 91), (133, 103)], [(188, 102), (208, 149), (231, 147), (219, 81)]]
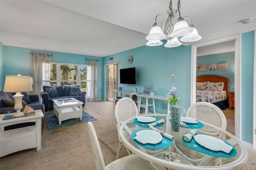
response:
[[(128, 57), (132, 55), (133, 62), (128, 63)], [(112, 61), (109, 59), (113, 57)], [(104, 57), (103, 63), (120, 61), (119, 69), (136, 67), (137, 85), (124, 85), (119, 83), (123, 90), (143, 93), (144, 86), (153, 86), (154, 94), (166, 95), (172, 87), (172, 74), (174, 74), (174, 86), (180, 97), (178, 104), (181, 108), (190, 106), (190, 72), (191, 72), (191, 46), (179, 46), (166, 48), (164, 45), (148, 47), (146, 45), (123, 51)], [(120, 81), (119, 81), (120, 82)], [(144, 99), (144, 98), (143, 98)], [(144, 101), (143, 101), (144, 102)], [(156, 112), (167, 113), (167, 103), (155, 100)], [(152, 112), (152, 108), (150, 108)], [(185, 114), (182, 114), (185, 116)]]

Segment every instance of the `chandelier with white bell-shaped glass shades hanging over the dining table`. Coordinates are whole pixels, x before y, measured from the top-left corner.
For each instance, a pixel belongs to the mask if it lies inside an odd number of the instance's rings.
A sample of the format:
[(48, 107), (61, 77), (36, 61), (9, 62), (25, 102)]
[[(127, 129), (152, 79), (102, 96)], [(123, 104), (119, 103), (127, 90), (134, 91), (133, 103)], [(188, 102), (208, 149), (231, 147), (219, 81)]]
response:
[[(162, 22), (156, 22), (153, 24), (153, 27), (150, 30), (150, 33), (146, 37), (146, 40), (148, 42), (146, 45), (148, 46), (158, 46), (162, 45), (163, 42), (160, 40), (166, 39), (167, 43), (164, 45), (164, 47), (178, 47), (180, 46), (182, 42), (195, 42), (198, 40), (201, 40), (201, 36), (198, 35), (197, 30), (194, 28), (194, 25), (192, 25), (192, 20), (190, 17), (180, 17), (180, 0), (178, 0), (178, 6), (177, 9), (172, 9), (172, 0), (169, 3), (169, 10), (166, 12), (168, 14), (168, 18), (165, 22), (164, 26), (164, 17), (161, 14), (158, 14), (156, 16), (156, 19), (158, 17), (162, 17)], [(179, 18), (176, 19), (177, 14), (179, 13)], [(187, 22), (184, 21), (184, 18), (188, 18), (190, 20), (190, 26), (188, 26)], [(160, 28), (160, 25), (162, 25), (162, 28)], [(164, 34), (164, 28), (167, 32), (167, 35)], [(178, 37), (180, 38), (180, 41), (178, 40)]]

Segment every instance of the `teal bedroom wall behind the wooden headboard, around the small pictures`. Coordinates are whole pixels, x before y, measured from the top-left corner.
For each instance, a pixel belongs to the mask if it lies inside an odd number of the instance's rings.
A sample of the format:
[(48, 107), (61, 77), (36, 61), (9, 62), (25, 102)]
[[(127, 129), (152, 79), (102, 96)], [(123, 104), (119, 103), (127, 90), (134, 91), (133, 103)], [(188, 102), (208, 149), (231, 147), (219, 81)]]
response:
[[(217, 64), (216, 70), (209, 70), (209, 64)], [(218, 70), (218, 63), (227, 63), (226, 70)], [(196, 57), (196, 65), (207, 64), (207, 71), (196, 71), (196, 75), (220, 75), (227, 77), (228, 82), (228, 91), (235, 91), (235, 51), (227, 53), (218, 53), (212, 55), (203, 55)], [(231, 82), (230, 79), (233, 79)]]

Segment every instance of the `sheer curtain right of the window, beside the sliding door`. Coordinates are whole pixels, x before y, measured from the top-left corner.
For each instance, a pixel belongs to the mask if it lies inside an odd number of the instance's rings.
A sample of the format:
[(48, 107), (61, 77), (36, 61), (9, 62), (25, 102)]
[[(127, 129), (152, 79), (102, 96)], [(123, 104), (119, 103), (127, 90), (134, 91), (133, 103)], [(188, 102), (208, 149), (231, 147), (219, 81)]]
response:
[(97, 68), (98, 60), (87, 59), (86, 100), (89, 99), (89, 101), (97, 100)]

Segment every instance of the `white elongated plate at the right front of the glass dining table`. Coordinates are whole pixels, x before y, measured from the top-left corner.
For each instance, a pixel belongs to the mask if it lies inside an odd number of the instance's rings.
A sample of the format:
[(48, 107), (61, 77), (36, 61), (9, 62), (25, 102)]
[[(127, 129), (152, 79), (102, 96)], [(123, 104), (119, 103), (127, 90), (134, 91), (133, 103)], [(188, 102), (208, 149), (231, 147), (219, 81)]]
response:
[(200, 145), (214, 151), (223, 151), (229, 153), (233, 148), (233, 146), (226, 144), (223, 140), (205, 134), (196, 134), (194, 139)]

